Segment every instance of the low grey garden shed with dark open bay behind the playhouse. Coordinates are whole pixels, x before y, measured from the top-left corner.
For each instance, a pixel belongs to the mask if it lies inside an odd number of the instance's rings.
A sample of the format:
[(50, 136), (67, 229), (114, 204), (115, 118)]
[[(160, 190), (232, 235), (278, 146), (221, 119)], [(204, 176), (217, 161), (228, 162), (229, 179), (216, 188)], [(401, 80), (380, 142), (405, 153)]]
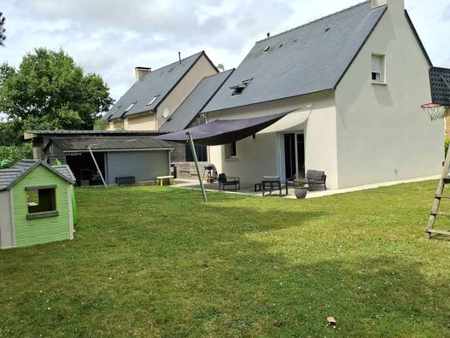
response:
[(35, 158), (67, 163), (78, 184), (102, 184), (97, 164), (110, 185), (118, 178), (133, 177), (145, 183), (169, 175), (173, 146), (155, 140), (154, 135), (144, 131), (32, 131), (25, 138), (33, 140)]

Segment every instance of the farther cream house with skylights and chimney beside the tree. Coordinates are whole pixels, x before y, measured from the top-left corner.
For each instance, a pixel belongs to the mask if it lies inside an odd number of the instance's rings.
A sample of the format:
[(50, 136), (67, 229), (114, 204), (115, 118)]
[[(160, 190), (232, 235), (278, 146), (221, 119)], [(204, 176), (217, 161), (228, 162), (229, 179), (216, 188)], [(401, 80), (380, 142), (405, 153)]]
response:
[(217, 73), (203, 51), (156, 70), (136, 67), (136, 82), (105, 116), (108, 129), (158, 131), (203, 78)]

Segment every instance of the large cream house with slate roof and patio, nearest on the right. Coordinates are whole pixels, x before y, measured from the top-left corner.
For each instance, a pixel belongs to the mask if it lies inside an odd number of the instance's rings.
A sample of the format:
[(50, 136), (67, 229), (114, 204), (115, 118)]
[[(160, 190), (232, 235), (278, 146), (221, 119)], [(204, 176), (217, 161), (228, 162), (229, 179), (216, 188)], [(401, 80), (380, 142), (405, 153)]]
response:
[(210, 161), (242, 182), (325, 170), (329, 188), (439, 173), (443, 124), (431, 61), (403, 0), (372, 0), (258, 41), (203, 113), (208, 121), (294, 111)]

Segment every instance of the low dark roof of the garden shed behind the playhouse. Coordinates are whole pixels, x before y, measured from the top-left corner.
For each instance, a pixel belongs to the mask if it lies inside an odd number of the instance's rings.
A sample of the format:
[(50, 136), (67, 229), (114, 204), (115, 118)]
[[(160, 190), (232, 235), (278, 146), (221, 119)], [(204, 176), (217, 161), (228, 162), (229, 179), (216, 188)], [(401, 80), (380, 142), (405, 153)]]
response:
[(156, 140), (150, 136), (103, 136), (103, 137), (54, 137), (51, 142), (62, 151), (92, 150), (152, 150), (172, 149), (167, 142)]

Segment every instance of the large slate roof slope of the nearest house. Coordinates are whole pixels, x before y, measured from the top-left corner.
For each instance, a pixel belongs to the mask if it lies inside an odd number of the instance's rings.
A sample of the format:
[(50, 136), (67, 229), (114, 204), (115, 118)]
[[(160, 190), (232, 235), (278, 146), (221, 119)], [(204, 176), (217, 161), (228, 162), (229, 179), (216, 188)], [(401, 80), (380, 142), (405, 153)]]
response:
[[(386, 9), (366, 1), (256, 42), (204, 111), (334, 89)], [(230, 87), (245, 80), (232, 96)]]

